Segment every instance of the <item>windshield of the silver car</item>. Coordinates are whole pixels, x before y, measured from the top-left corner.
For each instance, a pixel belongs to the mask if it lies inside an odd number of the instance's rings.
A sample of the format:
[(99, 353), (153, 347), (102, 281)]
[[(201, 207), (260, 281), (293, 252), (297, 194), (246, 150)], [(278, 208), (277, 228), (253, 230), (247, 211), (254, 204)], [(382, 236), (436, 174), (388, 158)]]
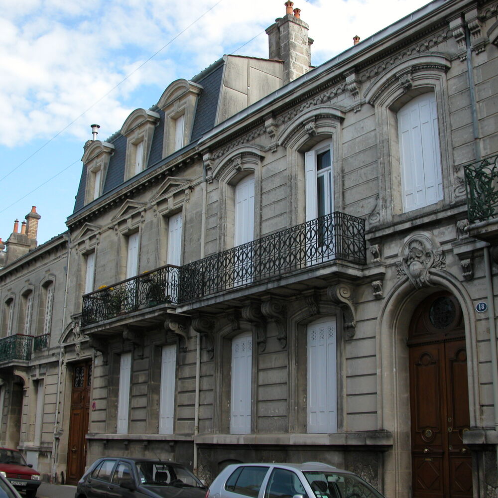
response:
[(382, 498), (372, 486), (352, 474), (303, 472), (316, 498)]

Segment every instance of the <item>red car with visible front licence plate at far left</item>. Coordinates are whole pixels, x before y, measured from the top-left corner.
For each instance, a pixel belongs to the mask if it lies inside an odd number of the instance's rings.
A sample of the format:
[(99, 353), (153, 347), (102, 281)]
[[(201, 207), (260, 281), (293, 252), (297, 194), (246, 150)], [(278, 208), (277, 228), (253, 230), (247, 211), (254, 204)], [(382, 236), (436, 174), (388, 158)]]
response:
[(27, 498), (34, 498), (41, 484), (40, 473), (32, 467), (17, 450), (0, 448), (0, 474)]

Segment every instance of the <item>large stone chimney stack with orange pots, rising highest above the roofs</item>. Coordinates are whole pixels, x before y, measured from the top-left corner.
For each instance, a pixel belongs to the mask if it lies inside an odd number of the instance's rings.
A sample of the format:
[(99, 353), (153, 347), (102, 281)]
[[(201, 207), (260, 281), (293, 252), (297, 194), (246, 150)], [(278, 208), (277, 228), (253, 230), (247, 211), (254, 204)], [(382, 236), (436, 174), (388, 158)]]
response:
[[(283, 84), (287, 84), (307, 73), (311, 67), (311, 44), (309, 26), (301, 20), (301, 9), (292, 10), (294, 2), (284, 3), (285, 16), (275, 19), (266, 28), (268, 35), (268, 57), (283, 61)], [(292, 14), (294, 12), (294, 14)]]

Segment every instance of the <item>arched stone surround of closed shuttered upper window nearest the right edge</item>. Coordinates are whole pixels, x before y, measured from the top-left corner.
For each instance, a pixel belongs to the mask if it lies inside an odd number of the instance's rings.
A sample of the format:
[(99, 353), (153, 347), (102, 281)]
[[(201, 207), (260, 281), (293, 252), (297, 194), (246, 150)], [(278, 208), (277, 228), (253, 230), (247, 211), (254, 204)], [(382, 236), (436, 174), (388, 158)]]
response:
[[(454, 190), (450, 188), (452, 185), (459, 185), (450, 153), (453, 147), (446, 82), (446, 73), (450, 67), (450, 60), (439, 53), (411, 56), (374, 79), (365, 91), (366, 102), (375, 108), (377, 123), (379, 199), (385, 199), (385, 204), (380, 206), (381, 223), (404, 219), (427, 210), (432, 212), (438, 207), (454, 203), (459, 195), (458, 187)], [(433, 92), (436, 99), (443, 200), (430, 206), (403, 212), (396, 113), (411, 99), (427, 92)]]

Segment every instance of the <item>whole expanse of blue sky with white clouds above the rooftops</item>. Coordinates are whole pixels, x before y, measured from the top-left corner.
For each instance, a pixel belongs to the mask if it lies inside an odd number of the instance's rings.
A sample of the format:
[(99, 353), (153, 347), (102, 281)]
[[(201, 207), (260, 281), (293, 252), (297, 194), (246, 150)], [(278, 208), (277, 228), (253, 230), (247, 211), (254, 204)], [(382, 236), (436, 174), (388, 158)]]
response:
[[(427, 0), (296, 0), (312, 63)], [(223, 54), (267, 57), (284, 0), (0, 0), (0, 237), (36, 206), (38, 242), (65, 230), (90, 124), (100, 139)]]

